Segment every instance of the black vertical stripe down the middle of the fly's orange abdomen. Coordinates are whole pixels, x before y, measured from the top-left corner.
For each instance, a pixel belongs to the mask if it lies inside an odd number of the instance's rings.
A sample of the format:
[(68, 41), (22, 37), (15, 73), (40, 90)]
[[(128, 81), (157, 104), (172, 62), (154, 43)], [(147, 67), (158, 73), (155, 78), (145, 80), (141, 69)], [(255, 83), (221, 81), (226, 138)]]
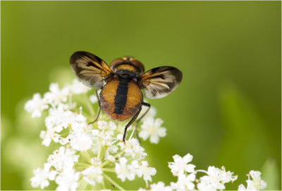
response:
[(119, 81), (118, 88), (116, 89), (115, 109), (114, 113), (123, 114), (123, 109), (128, 95), (128, 82)]

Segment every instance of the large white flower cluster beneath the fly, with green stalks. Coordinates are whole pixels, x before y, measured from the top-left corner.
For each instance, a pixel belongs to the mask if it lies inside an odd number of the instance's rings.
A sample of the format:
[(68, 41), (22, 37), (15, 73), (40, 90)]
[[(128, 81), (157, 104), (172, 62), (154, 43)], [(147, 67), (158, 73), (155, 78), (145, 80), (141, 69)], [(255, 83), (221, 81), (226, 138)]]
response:
[[(97, 103), (97, 96), (88, 97), (88, 91), (90, 88), (75, 79), (73, 84), (63, 88), (51, 84), (49, 92), (43, 96), (35, 93), (32, 100), (25, 104), (25, 110), (32, 117), (41, 117), (44, 110), (47, 110), (46, 130), (40, 133), (42, 145), (49, 147), (53, 142), (59, 145), (58, 150), (49, 155), (44, 169), (34, 170), (32, 187), (43, 189), (49, 185), (50, 180), (54, 180), (58, 185), (57, 190), (77, 190), (85, 184), (93, 189), (95, 185), (105, 189), (106, 180), (121, 188), (107, 173), (116, 173), (121, 181), (139, 177), (146, 184), (157, 173), (145, 160), (145, 149), (133, 138), (133, 128), (129, 129), (129, 133), (132, 131), (131, 136), (125, 144), (122, 141), (124, 123), (109, 121), (108, 117), (101, 114), (101, 120), (89, 124), (87, 115), (88, 118), (94, 118), (92, 104)], [(79, 106), (73, 101), (76, 94), (85, 96)], [(87, 111), (82, 111), (83, 108), (87, 108)], [(158, 143), (159, 137), (166, 136), (166, 129), (161, 127), (163, 121), (155, 119), (155, 115), (156, 110), (153, 108), (142, 119), (140, 126), (140, 137), (143, 140), (149, 138), (151, 143)]]

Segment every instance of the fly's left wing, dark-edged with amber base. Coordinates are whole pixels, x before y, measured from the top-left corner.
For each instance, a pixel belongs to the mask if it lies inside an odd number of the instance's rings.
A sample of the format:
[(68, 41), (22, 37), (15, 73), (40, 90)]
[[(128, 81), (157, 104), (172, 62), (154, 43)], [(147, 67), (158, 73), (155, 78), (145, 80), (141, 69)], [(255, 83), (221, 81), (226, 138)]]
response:
[(70, 64), (75, 75), (85, 86), (102, 88), (104, 82), (114, 76), (106, 62), (92, 53), (75, 52), (71, 55)]

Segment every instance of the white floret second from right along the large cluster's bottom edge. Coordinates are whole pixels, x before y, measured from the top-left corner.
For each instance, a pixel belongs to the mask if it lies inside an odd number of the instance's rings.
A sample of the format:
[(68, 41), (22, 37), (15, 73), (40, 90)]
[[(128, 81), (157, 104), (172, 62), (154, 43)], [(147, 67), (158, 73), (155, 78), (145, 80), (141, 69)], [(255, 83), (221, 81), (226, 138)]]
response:
[(135, 169), (131, 165), (126, 165), (128, 162), (125, 157), (119, 159), (119, 163), (116, 163), (115, 171), (118, 175), (118, 178), (121, 178), (121, 181), (125, 181), (125, 178), (128, 180), (134, 180), (135, 178)]

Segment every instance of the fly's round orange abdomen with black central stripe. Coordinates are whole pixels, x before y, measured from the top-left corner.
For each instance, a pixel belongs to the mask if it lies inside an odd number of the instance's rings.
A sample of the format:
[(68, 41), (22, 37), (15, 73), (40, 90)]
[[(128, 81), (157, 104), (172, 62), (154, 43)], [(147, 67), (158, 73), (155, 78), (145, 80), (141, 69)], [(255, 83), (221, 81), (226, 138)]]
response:
[(133, 117), (140, 110), (141, 103), (142, 92), (135, 81), (112, 79), (100, 93), (102, 110), (118, 121)]

